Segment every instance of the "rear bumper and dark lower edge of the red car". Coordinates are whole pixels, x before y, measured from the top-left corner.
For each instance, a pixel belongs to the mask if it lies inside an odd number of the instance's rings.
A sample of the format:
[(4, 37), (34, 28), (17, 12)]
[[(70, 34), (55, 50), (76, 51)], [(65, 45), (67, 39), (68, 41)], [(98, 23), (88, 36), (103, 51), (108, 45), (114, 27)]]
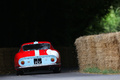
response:
[(61, 63), (54, 63), (49, 65), (34, 65), (34, 66), (25, 66), (25, 67), (16, 67), (16, 70), (53, 70), (55, 68), (60, 68)]

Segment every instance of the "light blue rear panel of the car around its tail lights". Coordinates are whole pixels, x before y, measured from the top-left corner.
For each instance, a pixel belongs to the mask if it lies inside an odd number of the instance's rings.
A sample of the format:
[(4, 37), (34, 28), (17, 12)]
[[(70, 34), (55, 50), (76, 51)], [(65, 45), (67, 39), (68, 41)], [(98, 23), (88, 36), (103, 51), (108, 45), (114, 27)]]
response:
[[(54, 62), (51, 61), (51, 58), (54, 58)], [(36, 62), (34, 61), (36, 59)], [(38, 59), (41, 59), (37, 61)], [(22, 65), (21, 61), (24, 61), (25, 64)], [(33, 56), (33, 57), (24, 57), (19, 59), (19, 64), (21, 67), (25, 66), (37, 66), (37, 65), (52, 65), (57, 61), (57, 58), (54, 55), (44, 55), (44, 56)]]

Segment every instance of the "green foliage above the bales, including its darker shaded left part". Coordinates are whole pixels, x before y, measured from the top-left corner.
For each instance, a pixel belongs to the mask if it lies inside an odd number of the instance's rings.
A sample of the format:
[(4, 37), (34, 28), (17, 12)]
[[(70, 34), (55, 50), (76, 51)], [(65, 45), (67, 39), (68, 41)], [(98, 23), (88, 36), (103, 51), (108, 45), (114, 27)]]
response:
[(108, 32), (120, 31), (120, 7), (110, 7), (109, 13), (101, 18), (96, 18), (96, 21), (87, 28), (88, 34), (99, 34)]

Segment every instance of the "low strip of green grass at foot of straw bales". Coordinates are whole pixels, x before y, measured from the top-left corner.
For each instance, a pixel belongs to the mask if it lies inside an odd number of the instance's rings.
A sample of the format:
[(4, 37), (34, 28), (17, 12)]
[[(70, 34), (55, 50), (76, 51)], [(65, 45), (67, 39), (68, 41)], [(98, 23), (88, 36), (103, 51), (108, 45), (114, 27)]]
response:
[(118, 73), (120, 73), (120, 71), (112, 70), (112, 69), (100, 70), (97, 67), (85, 68), (83, 70), (83, 72), (86, 72), (86, 73), (97, 73), (97, 74), (99, 74), (99, 73), (100, 74), (118, 74)]

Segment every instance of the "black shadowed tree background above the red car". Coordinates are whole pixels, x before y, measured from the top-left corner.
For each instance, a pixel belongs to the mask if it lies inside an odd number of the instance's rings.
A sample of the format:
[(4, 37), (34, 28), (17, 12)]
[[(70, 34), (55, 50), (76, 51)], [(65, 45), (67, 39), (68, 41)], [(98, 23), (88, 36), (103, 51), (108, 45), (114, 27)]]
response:
[(14, 0), (2, 1), (0, 47), (30, 41), (73, 46), (86, 28), (108, 13), (115, 0)]

